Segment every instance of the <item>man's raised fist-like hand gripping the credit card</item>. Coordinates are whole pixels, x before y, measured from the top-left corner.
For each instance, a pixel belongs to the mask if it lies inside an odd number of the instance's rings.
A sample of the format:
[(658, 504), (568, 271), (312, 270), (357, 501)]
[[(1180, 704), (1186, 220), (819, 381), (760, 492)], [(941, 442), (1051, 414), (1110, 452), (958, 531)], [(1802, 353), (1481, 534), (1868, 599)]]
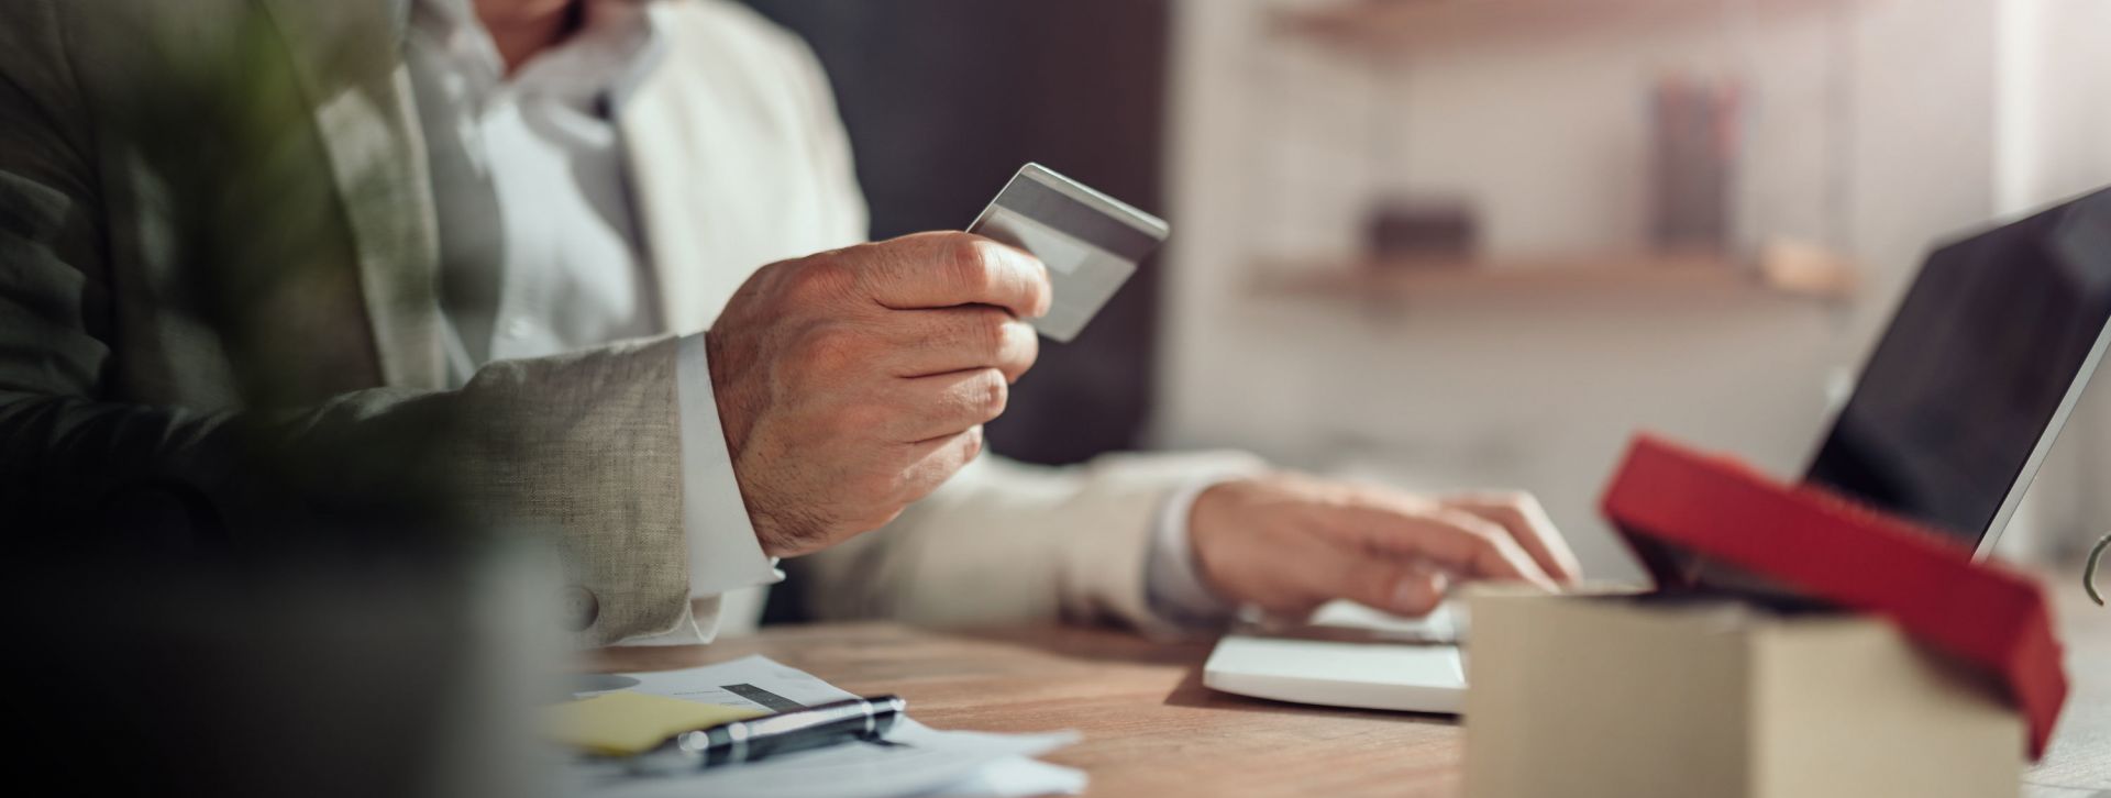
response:
[(764, 266), (705, 334), (749, 519), (771, 555), (891, 521), (982, 452), (1049, 308), (1032, 255), (925, 232)]

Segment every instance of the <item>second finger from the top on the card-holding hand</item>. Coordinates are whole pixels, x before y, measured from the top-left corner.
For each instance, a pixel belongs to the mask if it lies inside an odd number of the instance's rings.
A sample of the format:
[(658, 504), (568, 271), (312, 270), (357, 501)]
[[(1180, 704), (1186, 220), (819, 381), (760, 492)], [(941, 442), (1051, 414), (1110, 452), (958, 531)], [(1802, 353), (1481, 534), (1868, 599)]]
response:
[(1018, 382), (1041, 357), (1034, 327), (994, 306), (901, 310), (889, 317), (889, 357), (895, 359), (891, 369), (904, 378), (999, 369), (1005, 382)]

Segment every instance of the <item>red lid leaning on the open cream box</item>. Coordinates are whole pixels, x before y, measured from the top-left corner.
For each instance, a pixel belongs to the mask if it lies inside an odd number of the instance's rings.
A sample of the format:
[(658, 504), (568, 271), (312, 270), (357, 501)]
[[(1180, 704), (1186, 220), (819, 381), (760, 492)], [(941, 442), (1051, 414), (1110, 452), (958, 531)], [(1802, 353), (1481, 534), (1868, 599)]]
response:
[(1993, 676), (2046, 752), (2067, 699), (2060, 642), (2037, 581), (1934, 530), (1815, 486), (1782, 486), (1723, 456), (1636, 437), (1604, 513), (1657, 574), (1691, 578), (1678, 557), (1718, 559), (1841, 608), (1898, 623), (1915, 640)]

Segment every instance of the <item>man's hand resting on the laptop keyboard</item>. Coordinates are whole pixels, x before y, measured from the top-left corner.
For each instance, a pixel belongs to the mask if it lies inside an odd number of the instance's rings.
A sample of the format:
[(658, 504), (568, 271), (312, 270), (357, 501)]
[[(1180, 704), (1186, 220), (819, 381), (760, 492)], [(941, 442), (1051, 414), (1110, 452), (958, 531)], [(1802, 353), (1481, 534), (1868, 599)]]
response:
[(1203, 581), (1224, 600), (1307, 614), (1336, 597), (1427, 614), (1452, 578), (1556, 587), (1568, 543), (1528, 494), (1423, 498), (1269, 475), (1205, 490), (1188, 515)]

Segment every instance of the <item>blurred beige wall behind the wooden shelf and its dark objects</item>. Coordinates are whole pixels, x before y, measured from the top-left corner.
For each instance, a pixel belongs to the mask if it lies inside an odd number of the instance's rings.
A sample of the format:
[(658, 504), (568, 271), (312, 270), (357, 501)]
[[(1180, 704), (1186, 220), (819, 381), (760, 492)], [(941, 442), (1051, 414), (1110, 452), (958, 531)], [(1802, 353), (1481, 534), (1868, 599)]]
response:
[[(1843, 8), (1735, 40), (1687, 25), (1463, 49), (1378, 80), (1311, 53), (1256, 61), (1273, 57), (1258, 2), (1184, 2), (1157, 443), (1243, 445), (1410, 486), (1530, 488), (1596, 574), (1634, 576), (1594, 509), (1628, 435), (1799, 471), (1828, 380), (1851, 374), (1927, 243), (1997, 211), (1993, 0)], [(1748, 152), (1763, 169), (1739, 188), (1739, 217), (1843, 239), (1868, 270), (1856, 302), (1592, 293), (1366, 315), (1252, 291), (1256, 260), (1353, 251), (1364, 201), (1400, 184), (1476, 196), (1497, 253), (1632, 249), (1644, 87), (1666, 65), (1748, 76)], [(1837, 91), (1851, 99), (1845, 129), (1824, 116)], [(1404, 154), (1374, 158), (1383, 137), (1404, 137)], [(1843, 169), (1851, 192), (1834, 217), (1820, 196)]]

